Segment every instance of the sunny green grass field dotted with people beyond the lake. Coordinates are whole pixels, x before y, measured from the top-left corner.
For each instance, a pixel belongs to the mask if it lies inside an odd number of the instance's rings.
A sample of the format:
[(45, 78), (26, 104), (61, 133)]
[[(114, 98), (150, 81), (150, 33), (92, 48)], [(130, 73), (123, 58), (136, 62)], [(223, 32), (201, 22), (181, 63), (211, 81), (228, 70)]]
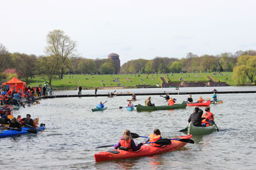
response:
[[(140, 76), (139, 76), (140, 75)], [(228, 85), (236, 85), (232, 80), (232, 73), (218, 73), (213, 75), (213, 73), (174, 73), (174, 74), (113, 74), (113, 75), (84, 75), (84, 74), (66, 74), (62, 80), (54, 78), (52, 80), (52, 87), (54, 89), (73, 89), (76, 90), (79, 85), (83, 88), (93, 89), (94, 87), (116, 87), (118, 83), (120, 86), (134, 88), (136, 85), (159, 85), (161, 86), (161, 76), (168, 77), (173, 83), (185, 82), (208, 82), (209, 78), (207, 76), (212, 76), (214, 80), (224, 82), (226, 81)], [(182, 78), (182, 80), (179, 80)], [(116, 80), (116, 81), (113, 81)], [(23, 80), (24, 81), (24, 80)], [(44, 85), (44, 80), (36, 76), (32, 80), (29, 80), (30, 86)]]

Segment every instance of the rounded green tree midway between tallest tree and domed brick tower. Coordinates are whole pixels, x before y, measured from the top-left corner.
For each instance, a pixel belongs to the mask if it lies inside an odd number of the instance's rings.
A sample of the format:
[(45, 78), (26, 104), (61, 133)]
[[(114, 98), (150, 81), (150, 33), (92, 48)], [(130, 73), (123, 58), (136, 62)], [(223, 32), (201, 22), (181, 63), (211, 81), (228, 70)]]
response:
[(95, 73), (96, 72), (96, 64), (93, 61), (93, 59), (83, 59), (79, 62), (78, 69), (83, 74)]

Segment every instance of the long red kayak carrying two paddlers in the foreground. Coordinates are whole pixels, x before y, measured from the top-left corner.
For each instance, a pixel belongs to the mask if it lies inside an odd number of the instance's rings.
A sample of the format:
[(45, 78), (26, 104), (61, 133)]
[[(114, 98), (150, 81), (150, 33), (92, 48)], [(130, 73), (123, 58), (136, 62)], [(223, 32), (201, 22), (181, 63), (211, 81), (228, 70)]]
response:
[[(192, 135), (188, 136), (180, 136), (180, 139), (190, 139)], [(94, 155), (95, 161), (105, 161), (105, 160), (116, 160), (116, 159), (129, 159), (134, 157), (147, 157), (156, 155), (158, 153), (163, 152), (171, 152), (173, 150), (177, 150), (185, 146), (187, 143), (181, 141), (173, 141), (171, 145), (164, 145), (161, 147), (150, 146), (150, 145), (143, 145), (141, 146), (140, 150), (135, 152), (128, 152), (125, 150), (110, 150), (107, 152), (99, 152)]]

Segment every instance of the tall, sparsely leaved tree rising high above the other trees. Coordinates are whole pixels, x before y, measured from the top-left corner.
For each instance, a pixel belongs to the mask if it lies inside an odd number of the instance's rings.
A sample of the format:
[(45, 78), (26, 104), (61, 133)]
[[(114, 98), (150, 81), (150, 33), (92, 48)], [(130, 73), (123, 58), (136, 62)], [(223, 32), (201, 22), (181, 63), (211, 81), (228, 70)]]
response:
[(45, 52), (48, 55), (55, 55), (60, 64), (60, 78), (63, 78), (65, 69), (70, 60), (75, 57), (76, 42), (72, 41), (65, 32), (60, 30), (50, 31), (47, 36)]

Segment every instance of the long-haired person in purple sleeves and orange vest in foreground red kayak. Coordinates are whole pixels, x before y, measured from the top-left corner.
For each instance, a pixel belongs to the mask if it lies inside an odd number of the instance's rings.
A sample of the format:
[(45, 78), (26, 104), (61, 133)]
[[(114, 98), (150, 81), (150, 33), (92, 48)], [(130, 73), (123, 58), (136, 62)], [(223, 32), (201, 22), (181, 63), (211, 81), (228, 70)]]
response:
[(124, 135), (120, 138), (118, 143), (114, 145), (115, 150), (118, 148), (120, 150), (126, 150), (126, 151), (136, 151), (140, 150), (140, 147), (143, 145), (143, 143), (140, 143), (139, 145), (135, 145), (132, 137), (131, 137), (131, 132), (129, 130), (124, 131)]

